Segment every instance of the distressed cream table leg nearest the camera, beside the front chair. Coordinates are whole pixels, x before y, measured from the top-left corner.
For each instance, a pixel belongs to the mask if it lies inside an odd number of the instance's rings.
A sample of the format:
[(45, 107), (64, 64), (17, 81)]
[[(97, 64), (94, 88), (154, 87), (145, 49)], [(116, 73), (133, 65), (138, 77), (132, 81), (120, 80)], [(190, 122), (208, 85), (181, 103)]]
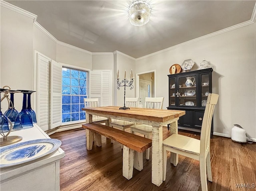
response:
[(163, 182), (163, 127), (152, 126), (152, 183)]

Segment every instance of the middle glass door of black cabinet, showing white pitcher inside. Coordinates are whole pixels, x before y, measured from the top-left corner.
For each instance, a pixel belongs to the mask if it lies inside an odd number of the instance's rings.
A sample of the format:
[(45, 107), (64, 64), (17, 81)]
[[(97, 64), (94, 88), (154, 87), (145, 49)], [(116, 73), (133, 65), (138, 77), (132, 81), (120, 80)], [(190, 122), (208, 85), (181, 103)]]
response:
[(198, 106), (196, 102), (196, 75), (178, 77), (179, 106)]

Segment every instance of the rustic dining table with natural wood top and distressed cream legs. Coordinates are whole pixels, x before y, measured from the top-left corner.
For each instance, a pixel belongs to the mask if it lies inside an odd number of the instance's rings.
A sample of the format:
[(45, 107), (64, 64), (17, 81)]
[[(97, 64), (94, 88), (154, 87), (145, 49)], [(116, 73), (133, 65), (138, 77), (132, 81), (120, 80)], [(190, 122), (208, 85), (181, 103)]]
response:
[[(178, 119), (185, 115), (183, 110), (164, 110), (149, 108), (119, 109), (118, 106), (82, 108), (86, 112), (86, 123), (91, 123), (93, 115), (152, 126), (152, 183), (160, 186), (163, 182), (163, 126), (170, 124), (170, 135), (178, 134)], [(178, 163), (178, 154), (171, 154), (171, 163)]]

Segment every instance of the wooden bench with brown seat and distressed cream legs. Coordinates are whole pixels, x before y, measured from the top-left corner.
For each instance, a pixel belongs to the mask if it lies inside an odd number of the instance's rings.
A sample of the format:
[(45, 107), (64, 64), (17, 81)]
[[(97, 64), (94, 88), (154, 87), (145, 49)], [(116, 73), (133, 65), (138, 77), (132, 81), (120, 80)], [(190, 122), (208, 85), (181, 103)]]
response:
[(139, 171), (143, 169), (143, 152), (152, 146), (152, 140), (119, 129), (115, 129), (95, 122), (83, 124), (86, 129), (86, 148), (92, 150), (93, 138), (101, 146), (101, 135), (119, 142), (123, 148), (123, 176), (132, 178), (133, 167)]

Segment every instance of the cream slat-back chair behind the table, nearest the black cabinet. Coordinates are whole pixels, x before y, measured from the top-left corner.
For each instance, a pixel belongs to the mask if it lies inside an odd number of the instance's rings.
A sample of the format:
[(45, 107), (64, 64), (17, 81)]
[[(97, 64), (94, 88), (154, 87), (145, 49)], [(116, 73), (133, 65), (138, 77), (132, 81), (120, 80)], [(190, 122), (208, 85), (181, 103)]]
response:
[[(163, 108), (163, 102), (164, 102), (164, 97), (146, 97), (145, 98), (145, 108), (150, 108), (150, 109), (162, 109)], [(131, 127), (131, 133), (140, 133), (143, 134), (144, 137), (150, 138), (152, 136), (152, 126), (150, 125), (144, 125), (144, 124), (135, 124), (130, 126)], [(146, 151), (146, 159), (149, 159), (149, 152), (150, 148), (147, 149)]]

